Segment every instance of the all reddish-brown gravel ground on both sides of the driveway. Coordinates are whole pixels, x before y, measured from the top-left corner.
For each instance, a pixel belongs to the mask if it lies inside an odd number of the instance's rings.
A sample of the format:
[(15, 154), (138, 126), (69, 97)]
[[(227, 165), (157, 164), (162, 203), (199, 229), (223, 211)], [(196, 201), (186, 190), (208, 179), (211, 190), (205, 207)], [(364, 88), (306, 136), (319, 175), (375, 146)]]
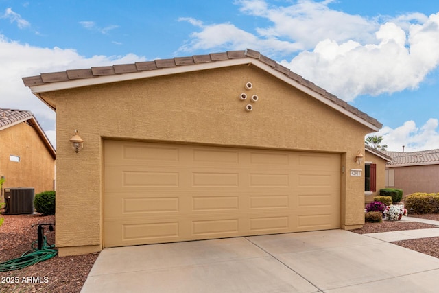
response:
[[(438, 220), (439, 214), (414, 215), (418, 218)], [(0, 262), (20, 257), (31, 250), (31, 244), (37, 235), (39, 223), (54, 223), (54, 216), (41, 215), (2, 215), (5, 218), (0, 227)], [(366, 223), (354, 233), (377, 233), (388, 231), (435, 228), (433, 225), (417, 222), (383, 221)], [(45, 228), (47, 242), (54, 244), (55, 231)], [(439, 237), (412, 239), (393, 242), (412, 250), (439, 258)], [(73, 257), (54, 257), (22, 270), (0, 272), (0, 292), (80, 292), (99, 253)], [(29, 278), (30, 277), (30, 278)], [(33, 278), (32, 278), (33, 277)], [(12, 283), (15, 282), (15, 283)]]

